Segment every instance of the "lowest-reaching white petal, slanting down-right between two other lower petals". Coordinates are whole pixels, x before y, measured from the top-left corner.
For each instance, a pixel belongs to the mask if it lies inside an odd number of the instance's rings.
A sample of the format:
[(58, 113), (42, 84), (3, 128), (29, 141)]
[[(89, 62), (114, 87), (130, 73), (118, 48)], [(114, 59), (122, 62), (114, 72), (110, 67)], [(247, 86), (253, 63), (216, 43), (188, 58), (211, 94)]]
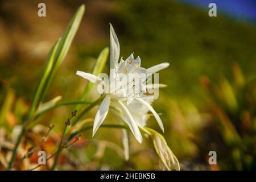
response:
[(126, 119), (127, 124), (129, 125), (131, 132), (133, 132), (135, 138), (138, 140), (139, 143), (142, 143), (142, 135), (141, 131), (139, 131), (139, 127), (137, 126), (137, 123), (134, 121), (133, 117), (131, 116), (131, 113), (127, 109), (127, 107), (121, 102), (118, 101), (119, 105), (122, 108), (124, 117)]

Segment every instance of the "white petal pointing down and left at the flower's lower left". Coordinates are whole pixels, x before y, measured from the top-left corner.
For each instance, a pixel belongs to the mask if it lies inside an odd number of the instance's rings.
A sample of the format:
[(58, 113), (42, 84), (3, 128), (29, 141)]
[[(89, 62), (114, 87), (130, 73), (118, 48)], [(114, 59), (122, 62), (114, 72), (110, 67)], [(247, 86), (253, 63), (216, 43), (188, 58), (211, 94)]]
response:
[(94, 123), (93, 123), (93, 135), (96, 133), (98, 128), (101, 126), (102, 122), (106, 118), (106, 115), (109, 111), (109, 104), (110, 104), (110, 96), (106, 95), (104, 100), (101, 102), (100, 107), (97, 110)]

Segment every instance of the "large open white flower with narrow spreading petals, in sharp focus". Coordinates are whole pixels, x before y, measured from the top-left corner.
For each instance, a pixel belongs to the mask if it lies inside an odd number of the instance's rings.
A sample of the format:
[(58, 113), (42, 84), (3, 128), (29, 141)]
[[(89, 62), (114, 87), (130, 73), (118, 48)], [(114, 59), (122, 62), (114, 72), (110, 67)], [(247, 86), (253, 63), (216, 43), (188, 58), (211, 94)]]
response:
[[(122, 117), (130, 127), (135, 138), (139, 143), (142, 143), (142, 135), (138, 126), (144, 126), (146, 124), (146, 114), (148, 111), (152, 112), (163, 131), (164, 127), (159, 115), (148, 103), (148, 101), (146, 101), (147, 95), (145, 94), (143, 97), (138, 97), (140, 94), (147, 92), (148, 86), (146, 85), (147, 77), (142, 77), (141, 75), (143, 73), (145, 75), (156, 73), (161, 69), (167, 68), (169, 63), (162, 63), (145, 69), (141, 67), (140, 57), (138, 56), (136, 59), (134, 59), (133, 53), (126, 60), (121, 58), (118, 63), (119, 54), (120, 47), (118, 38), (112, 25), (110, 24), (110, 84), (107, 85), (110, 87), (110, 92), (104, 93), (104, 100), (101, 102), (100, 107), (97, 110), (93, 125), (93, 135), (101, 126), (102, 122), (106, 118), (106, 115), (108, 114), (110, 105), (112, 105), (113, 107), (122, 111)], [(129, 84), (131, 80), (129, 80), (127, 77), (122, 77), (123, 79), (121, 79), (119, 73), (123, 73), (123, 75), (134, 73), (134, 84)], [(101, 78), (96, 75), (81, 71), (77, 71), (76, 74), (86, 78), (90, 82), (96, 84), (102, 83)], [(131, 94), (127, 92), (127, 90), (129, 90), (127, 86), (130, 86), (131, 90), (138, 86), (138, 88), (141, 89), (141, 92), (137, 94)], [(160, 84), (154, 86), (155, 88), (158, 88), (160, 87)], [(114, 88), (114, 92), (112, 88)]]

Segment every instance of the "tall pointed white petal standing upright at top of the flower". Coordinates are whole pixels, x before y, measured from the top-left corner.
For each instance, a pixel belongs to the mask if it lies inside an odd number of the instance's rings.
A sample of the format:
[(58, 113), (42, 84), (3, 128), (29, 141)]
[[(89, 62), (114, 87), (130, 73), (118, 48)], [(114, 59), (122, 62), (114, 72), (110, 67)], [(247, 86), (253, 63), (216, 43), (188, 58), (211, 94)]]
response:
[(112, 24), (110, 24), (110, 69), (114, 69), (115, 65), (118, 63), (120, 55), (120, 46), (118, 42), (117, 35), (115, 34)]

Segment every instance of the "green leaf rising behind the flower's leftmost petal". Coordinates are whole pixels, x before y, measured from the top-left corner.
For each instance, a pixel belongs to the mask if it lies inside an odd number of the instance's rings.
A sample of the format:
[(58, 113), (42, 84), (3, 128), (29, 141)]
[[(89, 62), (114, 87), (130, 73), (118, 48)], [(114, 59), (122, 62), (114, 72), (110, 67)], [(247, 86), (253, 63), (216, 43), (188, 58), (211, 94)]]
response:
[[(109, 56), (109, 48), (105, 47), (104, 49), (102, 49), (100, 55), (97, 58), (97, 61), (94, 65), (93, 72), (92, 72), (93, 75), (98, 76), (98, 75), (100, 75), (100, 73), (102, 73), (102, 71), (106, 65), (106, 61), (108, 60), (108, 56)], [(94, 84), (92, 82), (88, 82), (80, 101), (85, 100), (85, 98), (88, 96), (90, 90), (92, 89), (93, 85)], [(75, 109), (78, 110), (79, 108), (80, 108), (80, 105), (76, 105)]]

